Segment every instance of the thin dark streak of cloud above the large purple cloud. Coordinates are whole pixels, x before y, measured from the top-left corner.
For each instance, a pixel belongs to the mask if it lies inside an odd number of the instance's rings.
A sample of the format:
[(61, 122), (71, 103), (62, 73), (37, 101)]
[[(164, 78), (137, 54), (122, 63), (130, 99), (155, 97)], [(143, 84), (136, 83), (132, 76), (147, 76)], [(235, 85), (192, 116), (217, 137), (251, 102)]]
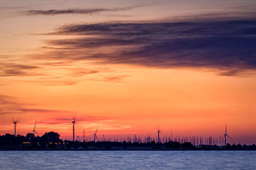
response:
[(94, 14), (104, 11), (125, 11), (132, 10), (141, 6), (127, 6), (124, 8), (92, 8), (92, 9), (67, 9), (67, 10), (28, 10), (26, 15), (63, 15), (63, 14)]

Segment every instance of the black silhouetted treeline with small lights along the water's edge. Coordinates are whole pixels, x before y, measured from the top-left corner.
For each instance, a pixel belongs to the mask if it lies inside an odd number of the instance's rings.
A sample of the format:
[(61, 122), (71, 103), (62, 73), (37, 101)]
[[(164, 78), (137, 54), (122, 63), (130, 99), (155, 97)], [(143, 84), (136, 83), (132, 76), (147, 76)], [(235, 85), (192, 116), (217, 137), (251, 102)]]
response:
[(168, 141), (165, 143), (117, 142), (117, 141), (63, 141), (56, 132), (45, 132), (43, 136), (26, 136), (5, 134), (0, 136), (0, 150), (256, 150), (256, 145), (198, 145), (189, 142), (179, 143)]

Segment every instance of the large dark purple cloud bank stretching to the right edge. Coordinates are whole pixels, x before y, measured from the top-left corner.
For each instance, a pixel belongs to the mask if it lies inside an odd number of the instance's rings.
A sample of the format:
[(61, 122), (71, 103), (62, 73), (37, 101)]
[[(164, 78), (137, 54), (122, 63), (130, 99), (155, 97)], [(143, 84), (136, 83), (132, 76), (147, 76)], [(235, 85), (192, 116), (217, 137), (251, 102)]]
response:
[(57, 47), (47, 56), (147, 67), (202, 67), (234, 76), (256, 69), (255, 27), (255, 15), (64, 25), (50, 34), (80, 37), (47, 41)]

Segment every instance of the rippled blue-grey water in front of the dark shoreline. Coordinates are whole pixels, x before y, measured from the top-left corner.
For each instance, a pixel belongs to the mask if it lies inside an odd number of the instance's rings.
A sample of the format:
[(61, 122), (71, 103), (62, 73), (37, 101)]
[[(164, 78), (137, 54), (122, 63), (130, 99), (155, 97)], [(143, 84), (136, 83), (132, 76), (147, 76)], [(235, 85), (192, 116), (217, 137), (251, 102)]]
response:
[(256, 151), (0, 151), (0, 169), (256, 169)]

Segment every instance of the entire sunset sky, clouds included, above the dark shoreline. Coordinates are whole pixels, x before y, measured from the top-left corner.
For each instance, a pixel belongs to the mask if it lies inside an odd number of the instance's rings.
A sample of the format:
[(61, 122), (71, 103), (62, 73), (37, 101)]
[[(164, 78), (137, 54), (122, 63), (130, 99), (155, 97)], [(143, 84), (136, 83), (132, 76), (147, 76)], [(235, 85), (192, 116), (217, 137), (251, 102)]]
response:
[(0, 0), (0, 134), (256, 143), (256, 1)]

